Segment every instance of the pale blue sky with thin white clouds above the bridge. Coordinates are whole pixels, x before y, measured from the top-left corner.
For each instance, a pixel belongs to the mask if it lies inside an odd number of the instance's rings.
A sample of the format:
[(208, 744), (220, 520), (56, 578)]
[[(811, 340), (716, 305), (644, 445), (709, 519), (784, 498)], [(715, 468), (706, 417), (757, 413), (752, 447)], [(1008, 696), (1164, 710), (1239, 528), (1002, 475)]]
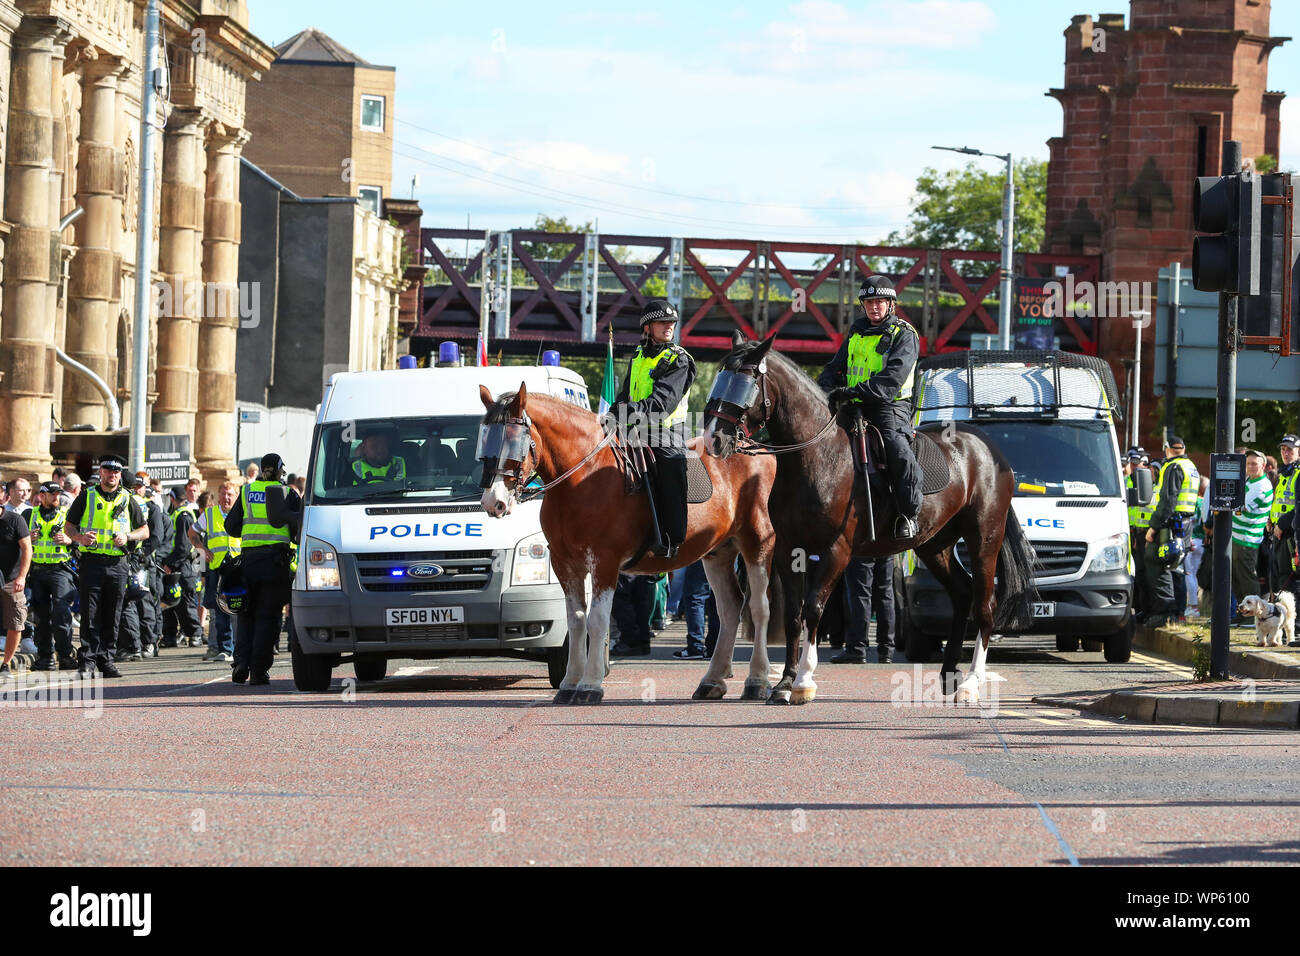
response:
[[(971, 146), (1048, 159), (1079, 0), (452, 4), (250, 0), (280, 43), (316, 27), (396, 68), (394, 195), (424, 225), (879, 242), (916, 176)], [(382, 12), (382, 13), (380, 13)], [(1282, 164), (1300, 166), (1300, 3), (1274, 0)], [(997, 170), (1000, 161), (978, 163)]]

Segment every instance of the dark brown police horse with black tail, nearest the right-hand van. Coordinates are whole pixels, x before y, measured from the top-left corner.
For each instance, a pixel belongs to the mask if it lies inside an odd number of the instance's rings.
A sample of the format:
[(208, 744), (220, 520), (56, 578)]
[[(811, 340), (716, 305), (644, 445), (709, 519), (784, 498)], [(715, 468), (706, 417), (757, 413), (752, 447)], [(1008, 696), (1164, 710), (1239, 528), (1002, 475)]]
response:
[[(875, 507), (868, 511), (854, 488), (849, 437), (829, 418), (822, 389), (772, 349), (771, 337), (749, 342), (737, 333), (705, 407), (705, 447), (725, 460), (737, 451), (763, 451), (750, 440), (763, 428), (772, 442), (767, 450), (777, 453), (772, 499), (781, 507), (774, 511), (772, 522), (777, 554), (783, 557), (775, 566), (788, 596), (785, 670), (768, 702), (806, 704), (816, 695), (812, 671), (818, 623), (849, 558), (880, 558), (907, 549), (926, 563), (952, 600), (952, 631), (941, 670), (945, 693), (956, 692), (958, 702), (976, 702), (989, 637), (994, 630), (1028, 626), (1037, 597), (1034, 549), (1011, 511), (1015, 481), (1002, 453), (980, 429), (966, 424), (919, 429), (918, 459), (930, 472), (916, 519), (919, 532), (913, 538), (896, 538), (896, 510), (884, 488), (885, 470), (870, 479)], [(863, 514), (874, 514), (874, 533), (861, 520)], [(954, 557), (958, 538), (966, 541), (968, 571)], [(797, 587), (796, 562), (784, 555), (802, 559), (807, 568), (805, 588)], [(796, 600), (800, 593), (802, 602)], [(961, 680), (957, 663), (967, 623), (978, 633), (970, 675)]]

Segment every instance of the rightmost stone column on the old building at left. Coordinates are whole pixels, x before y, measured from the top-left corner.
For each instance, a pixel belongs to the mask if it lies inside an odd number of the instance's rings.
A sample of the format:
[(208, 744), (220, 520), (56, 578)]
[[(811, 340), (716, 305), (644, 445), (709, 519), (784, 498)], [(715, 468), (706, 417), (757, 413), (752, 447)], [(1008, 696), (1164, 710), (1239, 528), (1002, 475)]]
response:
[(209, 488), (238, 473), (235, 455), (235, 336), (239, 289), (239, 155), (246, 130), (214, 124), (208, 137), (208, 193), (204, 204), (203, 281), (205, 297), (199, 326), (199, 414), (195, 453)]

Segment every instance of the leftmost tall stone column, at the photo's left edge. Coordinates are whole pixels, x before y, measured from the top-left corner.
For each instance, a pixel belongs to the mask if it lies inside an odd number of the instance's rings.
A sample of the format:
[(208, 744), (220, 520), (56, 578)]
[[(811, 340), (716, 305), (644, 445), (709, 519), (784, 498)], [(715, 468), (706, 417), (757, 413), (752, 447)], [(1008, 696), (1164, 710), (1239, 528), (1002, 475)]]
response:
[(5, 215), (13, 224), (5, 250), (0, 320), (0, 472), (49, 470), (53, 405), (55, 284), (58, 245), (51, 222), (56, 55), (73, 36), (57, 17), (26, 17), (13, 36)]

